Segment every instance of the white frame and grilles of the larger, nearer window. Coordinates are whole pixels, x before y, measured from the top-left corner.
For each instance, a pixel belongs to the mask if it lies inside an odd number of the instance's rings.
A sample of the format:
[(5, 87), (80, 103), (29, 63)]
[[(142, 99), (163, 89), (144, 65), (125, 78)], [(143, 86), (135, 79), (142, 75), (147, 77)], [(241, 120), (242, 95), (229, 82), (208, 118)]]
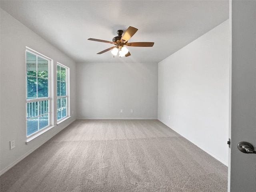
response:
[[(47, 60), (48, 61), (48, 78), (43, 78), (43, 79), (47, 79), (48, 80), (48, 97), (38, 97), (38, 85), (36, 86), (36, 98), (31, 98), (31, 99), (28, 99), (28, 82), (27, 82), (27, 77), (30, 76), (30, 77), (34, 77), (34, 76), (31, 76), (31, 75), (27, 75), (27, 52), (30, 53), (30, 54), (34, 54), (36, 55), (36, 57), (40, 57), (40, 58), (43, 58), (44, 60)], [(32, 50), (28, 47), (26, 47), (26, 51), (25, 51), (25, 66), (26, 66), (26, 138), (29, 139), (29, 138), (32, 138), (38, 134), (40, 134), (41, 132), (44, 132), (46, 129), (50, 128), (52, 126), (52, 76), (51, 76), (51, 66), (52, 66), (52, 59), (48, 58), (47, 56), (44, 56), (43, 54), (40, 54), (39, 52), (36, 52), (35, 50)], [(38, 60), (36, 62), (36, 81), (38, 82), (38, 78), (41, 78), (41, 77), (38, 77)], [(43, 114), (40, 114), (40, 109), (38, 107), (37, 111), (37, 115), (34, 116), (34, 117), (30, 117), (28, 118), (28, 114), (27, 114), (27, 110), (28, 110), (28, 103), (34, 103), (34, 102), (38, 102), (38, 106), (40, 106), (40, 102), (44, 102), (44, 101), (47, 101), (48, 100), (48, 112), (46, 113), (43, 113)], [(45, 126), (43, 128), (40, 129), (40, 116), (43, 116), (44, 114), (48, 114), (48, 126)], [(29, 134), (28, 135), (28, 120), (31, 120), (33, 118), (38, 118), (38, 130), (32, 134)]]

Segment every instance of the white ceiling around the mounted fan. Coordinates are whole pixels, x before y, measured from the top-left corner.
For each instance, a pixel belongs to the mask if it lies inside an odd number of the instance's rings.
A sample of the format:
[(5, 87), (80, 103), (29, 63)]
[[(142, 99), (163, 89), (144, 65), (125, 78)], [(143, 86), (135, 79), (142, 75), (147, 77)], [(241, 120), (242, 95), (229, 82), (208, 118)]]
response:
[[(1, 0), (1, 8), (75, 62), (160, 62), (229, 17), (228, 0)], [(138, 31), (129, 42), (131, 56), (113, 58), (117, 30)]]

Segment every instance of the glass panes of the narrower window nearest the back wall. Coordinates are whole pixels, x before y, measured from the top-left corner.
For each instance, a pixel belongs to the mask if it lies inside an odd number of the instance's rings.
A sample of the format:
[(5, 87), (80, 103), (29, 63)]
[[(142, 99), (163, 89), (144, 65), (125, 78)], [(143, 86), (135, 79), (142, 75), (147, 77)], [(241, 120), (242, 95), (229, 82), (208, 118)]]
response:
[(57, 64), (57, 121), (68, 116), (68, 69)]

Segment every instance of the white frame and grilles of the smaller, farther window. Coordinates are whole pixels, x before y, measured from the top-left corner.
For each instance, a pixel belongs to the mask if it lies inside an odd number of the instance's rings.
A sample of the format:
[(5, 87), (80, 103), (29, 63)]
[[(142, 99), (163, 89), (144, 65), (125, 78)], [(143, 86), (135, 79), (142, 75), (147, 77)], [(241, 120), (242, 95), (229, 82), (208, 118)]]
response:
[[(65, 68), (66, 69), (66, 95), (64, 96), (58, 96), (58, 81), (59, 82), (63, 82), (60, 80), (58, 80), (58, 66), (60, 66), (60, 68)], [(56, 120), (57, 120), (57, 124), (59, 124), (60, 122), (63, 122), (64, 120), (66, 120), (67, 118), (70, 117), (70, 80), (69, 80), (69, 67), (57, 62), (56, 65)], [(61, 90), (61, 89), (60, 89)], [(62, 98), (66, 98), (66, 106), (64, 107), (60, 107), (58, 108), (58, 99), (62, 99)], [(58, 119), (58, 110), (65, 108), (66, 107), (66, 116)], [(61, 110), (62, 112), (62, 110)]]

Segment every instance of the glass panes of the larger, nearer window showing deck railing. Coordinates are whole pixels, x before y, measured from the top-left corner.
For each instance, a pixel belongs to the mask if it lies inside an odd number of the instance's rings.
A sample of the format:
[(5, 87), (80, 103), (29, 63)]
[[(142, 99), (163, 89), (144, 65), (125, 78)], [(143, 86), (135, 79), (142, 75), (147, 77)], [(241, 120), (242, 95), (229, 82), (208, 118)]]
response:
[(31, 136), (49, 126), (50, 59), (26, 50), (26, 134)]

